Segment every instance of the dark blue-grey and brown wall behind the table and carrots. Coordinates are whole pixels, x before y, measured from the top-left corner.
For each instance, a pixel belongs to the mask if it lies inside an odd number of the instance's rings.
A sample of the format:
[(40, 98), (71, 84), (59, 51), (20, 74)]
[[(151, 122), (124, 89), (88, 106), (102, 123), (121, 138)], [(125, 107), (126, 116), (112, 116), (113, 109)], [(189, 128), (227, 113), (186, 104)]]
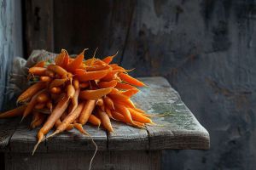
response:
[(136, 76), (163, 76), (177, 89), (209, 131), (211, 150), (166, 150), (164, 169), (256, 166), (254, 1), (26, 0), (22, 6), (25, 57), (35, 48), (70, 54), (90, 48), (91, 56), (98, 47), (98, 57), (119, 50), (115, 61), (135, 67)]

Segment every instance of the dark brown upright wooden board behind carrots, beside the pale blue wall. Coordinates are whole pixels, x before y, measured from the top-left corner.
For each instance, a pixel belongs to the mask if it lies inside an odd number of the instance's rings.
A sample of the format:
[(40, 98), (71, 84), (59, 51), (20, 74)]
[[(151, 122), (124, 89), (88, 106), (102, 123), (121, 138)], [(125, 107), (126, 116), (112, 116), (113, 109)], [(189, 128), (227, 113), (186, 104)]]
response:
[(27, 0), (24, 3), (26, 56), (34, 49), (53, 51), (53, 1)]

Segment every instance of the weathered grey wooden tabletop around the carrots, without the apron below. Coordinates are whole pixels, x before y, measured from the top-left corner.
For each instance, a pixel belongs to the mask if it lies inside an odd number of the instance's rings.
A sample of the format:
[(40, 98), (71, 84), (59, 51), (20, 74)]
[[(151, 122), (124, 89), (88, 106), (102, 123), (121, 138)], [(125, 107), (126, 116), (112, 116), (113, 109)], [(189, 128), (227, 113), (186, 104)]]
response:
[[(209, 134), (195, 119), (195, 116), (183, 104), (177, 92), (163, 77), (144, 77), (148, 88), (142, 88), (134, 101), (154, 114), (166, 116), (154, 117), (157, 126), (146, 129), (129, 127), (113, 122), (114, 133), (106, 133), (97, 127), (86, 125), (84, 128), (92, 135), (99, 150), (162, 150), (162, 149), (199, 149), (209, 148)], [(17, 127), (10, 139), (9, 150), (31, 152), (36, 144), (38, 129), (28, 130), (26, 123)], [(94, 150), (90, 138), (73, 129), (44, 141), (38, 152), (64, 150)]]

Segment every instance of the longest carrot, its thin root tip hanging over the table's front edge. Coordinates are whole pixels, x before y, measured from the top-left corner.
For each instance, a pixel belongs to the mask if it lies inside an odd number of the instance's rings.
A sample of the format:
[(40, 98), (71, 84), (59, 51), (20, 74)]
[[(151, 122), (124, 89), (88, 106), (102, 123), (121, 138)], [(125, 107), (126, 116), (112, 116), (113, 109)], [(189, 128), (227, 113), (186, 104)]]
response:
[(44, 126), (38, 132), (38, 143), (35, 145), (32, 155), (34, 155), (35, 151), (38, 148), (38, 144), (40, 144), (46, 133), (54, 126), (56, 120), (61, 117), (61, 114), (66, 111), (67, 105), (69, 104), (69, 98), (65, 96), (60, 102), (55, 106), (54, 111), (49, 115), (47, 121), (44, 123)]

